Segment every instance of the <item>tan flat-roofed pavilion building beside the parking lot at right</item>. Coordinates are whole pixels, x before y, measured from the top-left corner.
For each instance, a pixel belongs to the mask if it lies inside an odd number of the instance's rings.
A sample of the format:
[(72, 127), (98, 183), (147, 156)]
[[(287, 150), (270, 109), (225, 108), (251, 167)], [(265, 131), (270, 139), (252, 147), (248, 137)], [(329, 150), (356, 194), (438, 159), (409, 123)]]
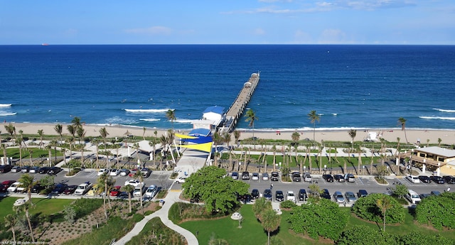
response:
[(437, 146), (412, 149), (410, 156), (412, 165), (434, 172), (434, 175), (455, 173), (455, 150)]

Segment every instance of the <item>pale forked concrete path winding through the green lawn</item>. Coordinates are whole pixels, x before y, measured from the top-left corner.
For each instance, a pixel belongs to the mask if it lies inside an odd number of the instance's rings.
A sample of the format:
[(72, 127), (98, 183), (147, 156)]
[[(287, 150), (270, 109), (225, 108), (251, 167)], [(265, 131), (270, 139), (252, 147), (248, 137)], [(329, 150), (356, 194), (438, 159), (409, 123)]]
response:
[(133, 238), (133, 236), (137, 236), (139, 232), (144, 229), (145, 225), (147, 222), (149, 222), (150, 219), (153, 219), (154, 217), (159, 217), (161, 219), (161, 222), (163, 222), (166, 227), (169, 227), (173, 229), (175, 232), (178, 234), (181, 234), (182, 236), (185, 236), (186, 241), (188, 241), (188, 245), (198, 245), (198, 239), (196, 239), (196, 236), (194, 236), (193, 233), (189, 232), (186, 229), (183, 229), (182, 227), (179, 227), (176, 224), (173, 224), (171, 220), (168, 219), (168, 212), (169, 209), (171, 208), (171, 205), (173, 205), (174, 202), (179, 202), (180, 199), (180, 194), (181, 190), (169, 190), (168, 195), (166, 195), (166, 198), (164, 198), (164, 205), (159, 209), (158, 211), (154, 212), (153, 214), (149, 214), (144, 219), (142, 219), (140, 222), (138, 222), (134, 228), (123, 236), (119, 241), (117, 241), (115, 244), (120, 245), (120, 244), (126, 244), (129, 240)]

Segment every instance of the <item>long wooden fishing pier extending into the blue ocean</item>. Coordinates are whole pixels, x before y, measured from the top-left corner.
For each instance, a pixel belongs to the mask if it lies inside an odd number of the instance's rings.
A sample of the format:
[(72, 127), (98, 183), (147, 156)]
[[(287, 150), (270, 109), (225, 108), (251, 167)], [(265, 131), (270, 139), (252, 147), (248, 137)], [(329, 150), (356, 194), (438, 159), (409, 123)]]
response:
[(235, 98), (234, 102), (229, 107), (228, 112), (226, 112), (225, 123), (220, 127), (221, 133), (225, 131), (232, 132), (235, 129), (238, 119), (242, 116), (248, 102), (250, 102), (251, 96), (253, 92), (255, 92), (258, 83), (259, 72), (253, 73), (250, 79), (245, 82), (239, 94), (237, 94), (237, 98)]

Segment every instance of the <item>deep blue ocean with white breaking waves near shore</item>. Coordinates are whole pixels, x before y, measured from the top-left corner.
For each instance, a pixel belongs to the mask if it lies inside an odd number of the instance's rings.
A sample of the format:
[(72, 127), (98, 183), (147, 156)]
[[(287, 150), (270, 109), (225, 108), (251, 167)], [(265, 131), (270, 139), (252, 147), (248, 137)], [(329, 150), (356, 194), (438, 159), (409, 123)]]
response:
[[(0, 120), (191, 129), (253, 72), (255, 130), (455, 130), (455, 45), (0, 45)], [(11, 105), (10, 105), (11, 104)], [(241, 120), (237, 129), (249, 129)]]

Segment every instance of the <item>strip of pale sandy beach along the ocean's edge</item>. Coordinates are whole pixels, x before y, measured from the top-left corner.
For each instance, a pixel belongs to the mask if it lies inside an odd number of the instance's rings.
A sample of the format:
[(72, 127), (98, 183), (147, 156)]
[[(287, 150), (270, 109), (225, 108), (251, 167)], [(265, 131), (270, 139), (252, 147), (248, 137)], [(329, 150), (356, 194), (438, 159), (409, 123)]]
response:
[[(7, 124), (4, 124), (7, 125)], [(26, 123), (13, 123), (16, 127), (16, 132), (19, 130), (23, 131), (23, 134), (38, 134), (38, 130), (43, 129), (44, 134), (46, 135), (56, 135), (57, 133), (54, 130), (54, 126), (56, 124), (26, 124)], [(63, 134), (68, 135), (68, 130), (66, 126), (68, 124), (63, 124)], [(166, 130), (163, 129), (151, 129), (146, 128), (145, 134), (144, 129), (142, 127), (134, 127), (134, 126), (120, 126), (120, 125), (92, 125), (86, 124), (84, 125), (84, 129), (86, 131), (85, 136), (100, 136), (100, 129), (106, 127), (107, 132), (109, 133), (109, 137), (122, 137), (126, 134), (131, 134), (133, 136), (142, 137), (143, 135), (146, 137), (155, 136), (154, 131), (157, 131), (157, 136), (161, 136), (166, 134)], [(5, 133), (6, 130), (4, 127), (0, 129), (2, 133)], [(183, 134), (188, 132), (181, 132)], [(266, 139), (286, 139), (291, 140), (291, 135), (294, 131), (258, 131), (255, 130), (254, 134), (258, 138), (266, 138)], [(370, 133), (379, 134), (380, 137), (385, 138), (387, 141), (396, 142), (397, 138), (400, 137), (400, 142), (405, 142), (405, 131), (400, 129), (363, 129), (357, 130), (357, 135), (355, 136), (355, 141), (363, 141), (364, 138), (368, 136)], [(300, 139), (309, 138), (313, 139), (313, 131), (299, 131)], [(240, 140), (243, 138), (249, 138), (253, 136), (252, 130), (248, 131), (240, 131)], [(351, 141), (350, 136), (348, 135), (348, 130), (346, 131), (319, 131), (316, 128), (316, 141)], [(438, 138), (441, 138), (442, 144), (455, 144), (455, 130), (415, 130), (415, 129), (406, 129), (406, 136), (407, 140), (410, 143), (417, 143), (420, 140), (422, 145), (427, 144), (427, 139), (429, 139), (429, 143), (438, 143)], [(234, 141), (234, 136), (232, 136), (232, 141)]]

